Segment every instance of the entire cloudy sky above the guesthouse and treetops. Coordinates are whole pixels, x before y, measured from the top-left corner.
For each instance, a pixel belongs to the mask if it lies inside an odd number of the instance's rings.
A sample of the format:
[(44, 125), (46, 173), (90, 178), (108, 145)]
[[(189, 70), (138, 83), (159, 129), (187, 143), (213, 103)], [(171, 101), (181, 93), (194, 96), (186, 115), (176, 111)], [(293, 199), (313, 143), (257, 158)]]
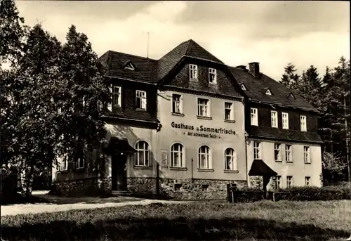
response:
[(321, 75), (350, 59), (349, 1), (16, 1), (26, 25), (65, 42), (71, 25), (101, 56), (119, 51), (159, 59), (193, 39), (230, 66), (260, 63), (279, 80), (288, 63)]

